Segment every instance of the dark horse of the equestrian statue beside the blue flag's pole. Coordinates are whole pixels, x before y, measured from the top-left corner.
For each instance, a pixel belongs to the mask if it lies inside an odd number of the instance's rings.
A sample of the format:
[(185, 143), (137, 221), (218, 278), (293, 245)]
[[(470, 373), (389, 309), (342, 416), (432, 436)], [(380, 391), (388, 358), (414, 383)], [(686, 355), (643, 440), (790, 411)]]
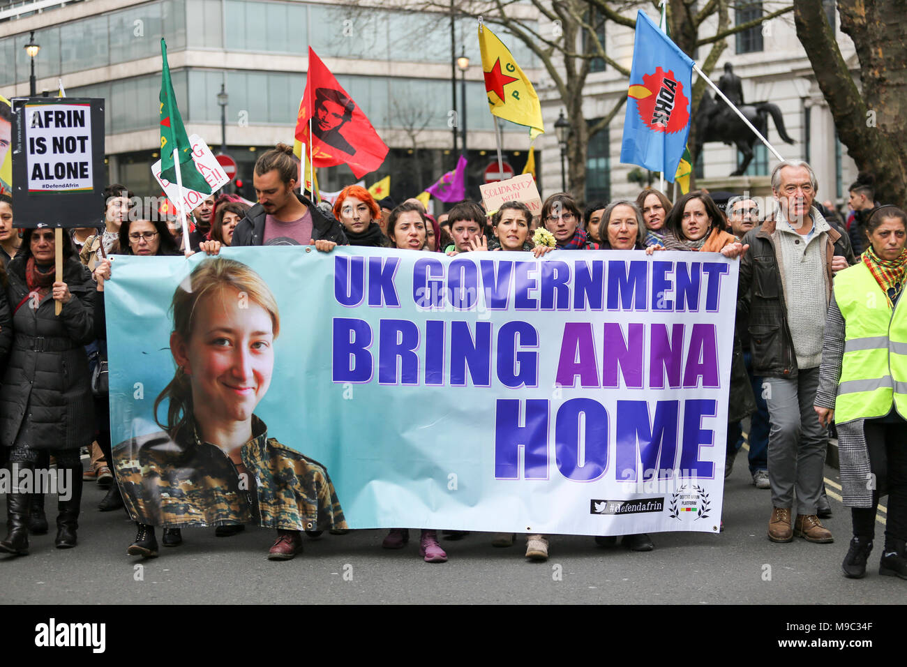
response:
[[(717, 108), (718, 104), (721, 105), (721, 108)], [(767, 138), (768, 116), (771, 116), (781, 138), (787, 143), (795, 143), (785, 132), (785, 119), (777, 104), (759, 102), (743, 104), (737, 108), (746, 116), (746, 120), (753, 123), (756, 130), (762, 132), (762, 136)], [(734, 113), (734, 110), (726, 103), (717, 102), (709, 94), (702, 96), (702, 102), (699, 103), (696, 112), (696, 143), (693, 147), (696, 155), (702, 151), (702, 144), (706, 142), (736, 144), (736, 147), (743, 153), (743, 162), (737, 167), (736, 172), (731, 173), (731, 176), (742, 176), (743, 172), (746, 172), (746, 167), (753, 160), (753, 145), (758, 141), (759, 138), (756, 134), (746, 127), (746, 123), (740, 120), (740, 116)]]

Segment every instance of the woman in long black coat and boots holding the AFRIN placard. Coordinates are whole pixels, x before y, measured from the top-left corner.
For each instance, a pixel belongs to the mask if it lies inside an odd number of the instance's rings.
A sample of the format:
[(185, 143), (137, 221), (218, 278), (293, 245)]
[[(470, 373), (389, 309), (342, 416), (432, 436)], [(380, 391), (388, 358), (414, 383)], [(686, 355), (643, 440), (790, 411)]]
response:
[[(61, 494), (54, 544), (75, 546), (82, 500), (79, 448), (92, 442), (94, 410), (84, 345), (94, 338), (94, 283), (63, 234), (63, 280), (54, 281), (54, 230), (26, 230), (6, 269), (6, 301), (15, 336), (0, 393), (0, 442), (12, 446), (10, 463), (34, 468), (51, 452), (68, 493)], [(63, 304), (59, 316), (54, 303)], [(7, 496), (9, 535), (0, 551), (28, 553), (28, 496)], [(65, 500), (63, 498), (66, 498)]]

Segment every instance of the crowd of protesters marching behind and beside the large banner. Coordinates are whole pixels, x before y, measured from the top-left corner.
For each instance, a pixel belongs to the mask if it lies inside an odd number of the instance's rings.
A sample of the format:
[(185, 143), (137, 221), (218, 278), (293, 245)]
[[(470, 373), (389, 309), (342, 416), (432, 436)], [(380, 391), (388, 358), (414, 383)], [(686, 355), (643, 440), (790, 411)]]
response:
[[(844, 505), (851, 508), (853, 538), (844, 556), (848, 577), (862, 577), (873, 549), (876, 507), (889, 495), (880, 574), (907, 579), (907, 307), (899, 309), (907, 278), (907, 216), (880, 205), (873, 179), (861, 174), (850, 189), (844, 220), (816, 201), (818, 183), (806, 162), (781, 162), (772, 173), (776, 205), (740, 194), (719, 205), (707, 191), (676, 202), (645, 189), (635, 201), (591, 201), (584, 210), (559, 192), (532, 216), (510, 201), (484, 211), (473, 201), (455, 204), (436, 218), (421, 202), (375, 201), (364, 188), (344, 188), (333, 206), (317, 204), (297, 189), (298, 164), (288, 146), (259, 157), (254, 184), (258, 202), (210, 195), (191, 213), (189, 252), (211, 255), (225, 246), (337, 245), (395, 248), (456, 255), (479, 251), (660, 250), (721, 252), (740, 260), (735, 344), (728, 404), (725, 476), (747, 444), (753, 485), (768, 489), (767, 536), (786, 543), (795, 536), (827, 544), (834, 538), (821, 518), (831, 515), (824, 491), (829, 427), (839, 438)], [(128, 214), (132, 192), (105, 191), (98, 227), (63, 235), (63, 280), (54, 280), (54, 231), (17, 231), (13, 201), (0, 196), (0, 436), (8, 465), (47, 466), (73, 473), (73, 494), (59, 501), (59, 548), (75, 546), (84, 481), (107, 488), (99, 509), (123, 507), (113, 480), (108, 397), (104, 393), (106, 334), (103, 285), (112, 278), (112, 255), (180, 255), (183, 235), (172, 214), (153, 220)], [(724, 203), (724, 202), (722, 202)], [(766, 210), (769, 209), (769, 210)], [(553, 243), (533, 240), (550, 232)], [(878, 294), (876, 294), (878, 292)], [(867, 298), (867, 295), (873, 298)], [(54, 303), (62, 304), (54, 317)], [(28, 307), (24, 307), (28, 306)], [(62, 373), (61, 369), (65, 368)], [(176, 381), (176, 380), (174, 380)], [(743, 422), (749, 418), (749, 432)], [(250, 435), (249, 435), (250, 437)], [(80, 452), (90, 453), (83, 471)], [(872, 484), (867, 484), (871, 479)], [(48, 531), (44, 497), (6, 497), (8, 535), (0, 552), (27, 554), (28, 535)], [(767, 502), (766, 502), (767, 508)], [(767, 509), (766, 509), (767, 513)], [(177, 546), (179, 527), (163, 525), (162, 542)], [(243, 525), (217, 525), (235, 535)], [(424, 528), (419, 554), (440, 563), (447, 554), (437, 528)], [(152, 525), (137, 525), (129, 553), (158, 554)], [(326, 528), (306, 531), (317, 538)], [(448, 540), (463, 531), (446, 531)], [(394, 528), (382, 546), (401, 549), (406, 528)], [(617, 537), (597, 537), (600, 546)], [(287, 560), (302, 551), (300, 531), (278, 529), (268, 557)], [(508, 547), (514, 535), (493, 535)], [(649, 551), (649, 535), (625, 535), (632, 551)], [(527, 535), (526, 557), (545, 560), (549, 536)]]

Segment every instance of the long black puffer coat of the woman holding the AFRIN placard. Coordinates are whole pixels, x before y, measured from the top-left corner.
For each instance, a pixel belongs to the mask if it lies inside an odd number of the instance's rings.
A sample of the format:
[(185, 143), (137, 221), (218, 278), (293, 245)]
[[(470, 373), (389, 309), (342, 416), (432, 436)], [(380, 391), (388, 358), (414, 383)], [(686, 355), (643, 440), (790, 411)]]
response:
[[(24, 255), (7, 267), (6, 301), (15, 311), (15, 336), (0, 392), (0, 442), (13, 445), (28, 427), (33, 449), (87, 446), (94, 433), (91, 376), (83, 345), (94, 339), (94, 281), (74, 257), (63, 263), (63, 282), (73, 299), (54, 315), (48, 294), (31, 308)], [(22, 304), (19, 309), (16, 307)]]

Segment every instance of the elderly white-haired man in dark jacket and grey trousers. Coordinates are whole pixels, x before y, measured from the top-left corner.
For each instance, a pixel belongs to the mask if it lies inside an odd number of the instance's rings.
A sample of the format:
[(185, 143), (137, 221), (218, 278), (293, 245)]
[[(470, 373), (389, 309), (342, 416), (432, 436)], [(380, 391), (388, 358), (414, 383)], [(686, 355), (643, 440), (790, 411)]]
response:
[(840, 232), (813, 206), (817, 188), (806, 162), (778, 164), (772, 172), (778, 214), (746, 233), (743, 242), (750, 249), (740, 264), (739, 306), (748, 311), (753, 372), (764, 378), (771, 423), (774, 508), (768, 538), (773, 542), (791, 542), (795, 535), (833, 541), (816, 516), (828, 434), (813, 403), (832, 278), (847, 268), (848, 253)]

